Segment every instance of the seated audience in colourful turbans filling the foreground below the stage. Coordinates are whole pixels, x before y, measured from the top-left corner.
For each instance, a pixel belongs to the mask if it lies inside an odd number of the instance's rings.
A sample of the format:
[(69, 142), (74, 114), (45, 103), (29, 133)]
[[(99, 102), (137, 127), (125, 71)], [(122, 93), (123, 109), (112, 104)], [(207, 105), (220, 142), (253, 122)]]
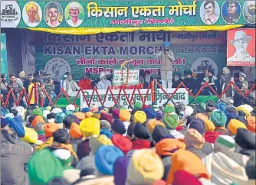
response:
[(205, 108), (2, 108), (1, 184), (255, 184), (255, 108)]

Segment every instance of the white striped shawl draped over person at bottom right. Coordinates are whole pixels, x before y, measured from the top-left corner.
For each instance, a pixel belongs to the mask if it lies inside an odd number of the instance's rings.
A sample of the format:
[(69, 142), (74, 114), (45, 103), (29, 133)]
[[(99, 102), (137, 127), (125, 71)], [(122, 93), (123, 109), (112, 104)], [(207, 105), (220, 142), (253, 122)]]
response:
[(248, 180), (245, 167), (221, 152), (209, 154), (202, 159), (202, 162), (212, 176), (212, 183), (230, 185), (245, 183)]

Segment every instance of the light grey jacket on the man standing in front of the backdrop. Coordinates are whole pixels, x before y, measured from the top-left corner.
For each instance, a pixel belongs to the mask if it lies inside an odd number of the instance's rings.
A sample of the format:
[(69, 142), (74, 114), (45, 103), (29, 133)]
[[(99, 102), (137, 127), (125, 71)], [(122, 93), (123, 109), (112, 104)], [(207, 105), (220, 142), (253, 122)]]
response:
[(172, 62), (174, 62), (174, 54), (172, 50), (169, 50), (167, 55), (164, 51), (160, 51), (157, 57), (161, 59), (161, 71), (172, 71)]

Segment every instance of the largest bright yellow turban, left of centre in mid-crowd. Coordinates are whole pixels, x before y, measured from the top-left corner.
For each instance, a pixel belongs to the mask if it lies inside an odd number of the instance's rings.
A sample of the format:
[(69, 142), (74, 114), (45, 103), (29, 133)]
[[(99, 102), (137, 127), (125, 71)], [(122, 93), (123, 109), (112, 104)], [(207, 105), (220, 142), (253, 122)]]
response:
[(85, 137), (100, 135), (100, 120), (97, 118), (85, 118), (80, 122), (80, 131)]

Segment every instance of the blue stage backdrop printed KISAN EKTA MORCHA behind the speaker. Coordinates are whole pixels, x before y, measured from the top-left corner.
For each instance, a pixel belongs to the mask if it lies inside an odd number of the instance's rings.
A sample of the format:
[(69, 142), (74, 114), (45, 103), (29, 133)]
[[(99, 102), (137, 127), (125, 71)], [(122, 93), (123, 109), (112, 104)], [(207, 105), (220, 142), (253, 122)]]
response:
[[(29, 39), (30, 32), (26, 34)], [(93, 78), (103, 70), (113, 73), (113, 69), (120, 69), (121, 63), (126, 60), (132, 60), (130, 69), (149, 70), (153, 76), (157, 76), (161, 65), (157, 54), (165, 41), (171, 42), (176, 59), (174, 71), (181, 75), (184, 70), (203, 73), (209, 69), (217, 75), (226, 65), (225, 31), (94, 35), (35, 32), (34, 40), (31, 43), (35, 45), (35, 70), (51, 73), (57, 81), (65, 72), (71, 72), (75, 80), (80, 80), (84, 73), (90, 73)]]

